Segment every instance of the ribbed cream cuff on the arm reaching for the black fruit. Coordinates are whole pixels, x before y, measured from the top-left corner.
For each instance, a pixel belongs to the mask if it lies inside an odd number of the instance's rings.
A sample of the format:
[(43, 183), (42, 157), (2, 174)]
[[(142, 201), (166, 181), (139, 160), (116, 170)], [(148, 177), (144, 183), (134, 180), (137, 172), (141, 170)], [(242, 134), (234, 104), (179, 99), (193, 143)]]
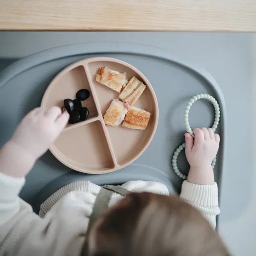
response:
[(15, 200), (20, 193), (25, 178), (15, 178), (9, 175), (0, 173), (0, 201)]

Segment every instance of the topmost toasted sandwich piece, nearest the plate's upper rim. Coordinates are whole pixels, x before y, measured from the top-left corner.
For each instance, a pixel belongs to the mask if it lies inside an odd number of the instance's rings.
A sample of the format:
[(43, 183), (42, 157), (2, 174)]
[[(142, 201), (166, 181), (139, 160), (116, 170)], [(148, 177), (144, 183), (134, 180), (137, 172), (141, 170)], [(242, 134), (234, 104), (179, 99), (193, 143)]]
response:
[(96, 75), (96, 81), (103, 84), (118, 93), (124, 87), (128, 80), (126, 73), (119, 73), (118, 71), (111, 70), (108, 67), (101, 67)]

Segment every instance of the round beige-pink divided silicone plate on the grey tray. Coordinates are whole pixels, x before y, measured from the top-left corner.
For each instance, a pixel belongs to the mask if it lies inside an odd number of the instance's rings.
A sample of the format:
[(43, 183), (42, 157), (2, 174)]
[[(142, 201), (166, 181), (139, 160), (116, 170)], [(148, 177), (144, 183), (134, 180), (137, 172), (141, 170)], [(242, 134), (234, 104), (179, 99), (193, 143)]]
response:
[[(118, 93), (96, 82), (100, 67), (126, 72), (127, 79), (136, 76), (146, 89), (134, 106), (151, 113), (145, 130), (110, 127), (103, 122), (103, 115)], [(89, 109), (83, 122), (68, 124), (50, 147), (52, 154), (64, 165), (84, 173), (114, 172), (134, 162), (148, 147), (154, 137), (158, 122), (158, 105), (154, 90), (143, 74), (130, 64), (114, 58), (96, 57), (78, 61), (59, 73), (49, 84), (41, 105), (63, 107), (64, 99), (76, 99), (82, 88), (90, 97), (82, 101)]]

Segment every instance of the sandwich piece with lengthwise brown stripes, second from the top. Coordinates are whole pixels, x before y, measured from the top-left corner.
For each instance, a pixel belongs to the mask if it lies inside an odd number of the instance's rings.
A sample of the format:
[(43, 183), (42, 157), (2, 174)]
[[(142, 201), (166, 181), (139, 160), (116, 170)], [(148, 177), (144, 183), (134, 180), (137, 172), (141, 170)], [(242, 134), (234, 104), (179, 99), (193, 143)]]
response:
[(123, 102), (127, 102), (130, 106), (134, 105), (145, 88), (145, 84), (134, 76), (119, 94), (119, 99), (122, 99)]

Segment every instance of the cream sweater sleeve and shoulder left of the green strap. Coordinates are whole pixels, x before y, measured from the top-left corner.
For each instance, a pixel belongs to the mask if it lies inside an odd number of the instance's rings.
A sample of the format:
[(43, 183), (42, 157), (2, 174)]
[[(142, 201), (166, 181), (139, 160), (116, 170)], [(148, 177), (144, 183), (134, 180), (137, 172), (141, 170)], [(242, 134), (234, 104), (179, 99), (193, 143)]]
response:
[(96, 196), (70, 192), (40, 218), (18, 197), (23, 184), (0, 173), (0, 256), (79, 255)]

